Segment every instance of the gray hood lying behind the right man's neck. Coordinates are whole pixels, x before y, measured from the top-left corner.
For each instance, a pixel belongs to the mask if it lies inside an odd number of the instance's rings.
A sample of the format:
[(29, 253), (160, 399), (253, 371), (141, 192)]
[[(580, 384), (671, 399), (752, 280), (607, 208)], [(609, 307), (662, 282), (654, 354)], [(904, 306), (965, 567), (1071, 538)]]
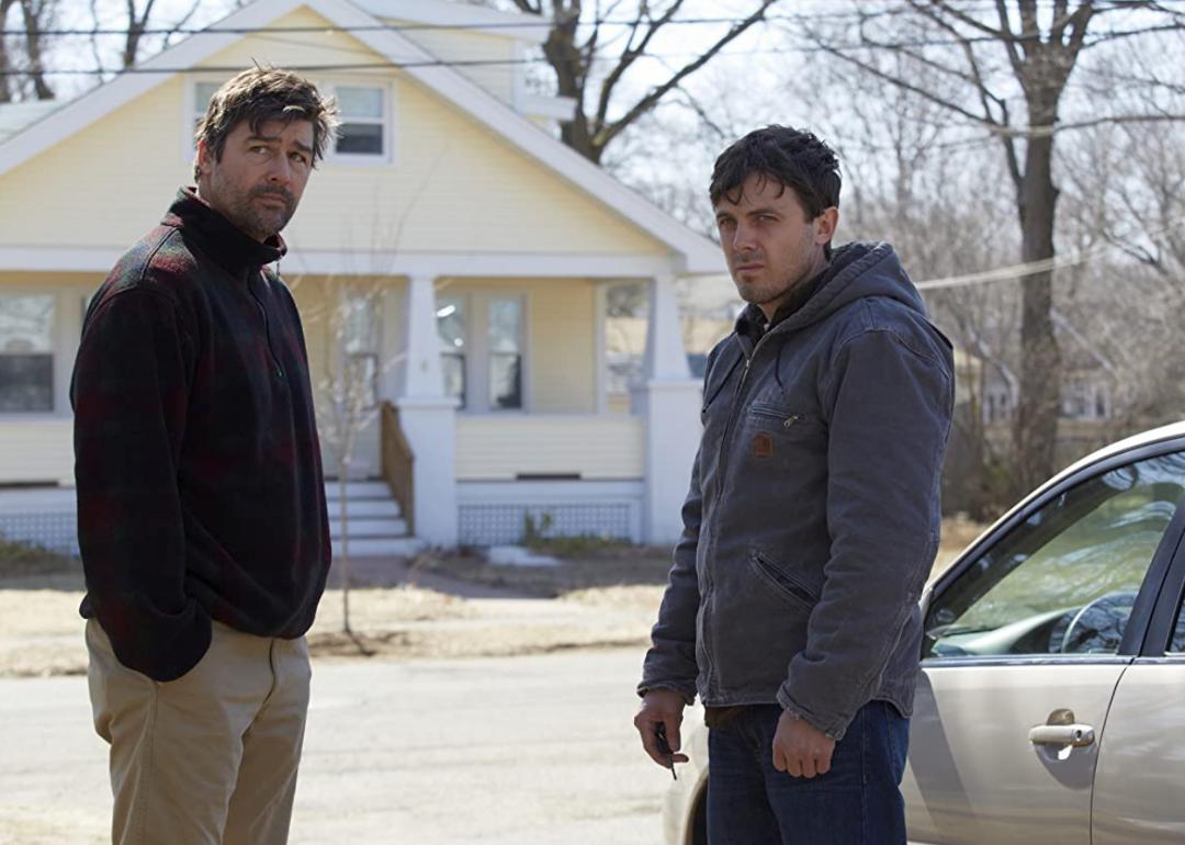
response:
[[(905, 275), (892, 244), (884, 241), (853, 241), (837, 247), (831, 264), (824, 271), (819, 287), (803, 306), (782, 320), (775, 331), (793, 332), (819, 322), (830, 314), (856, 300), (869, 296), (886, 296), (925, 316), (925, 303), (917, 288)], [(752, 319), (757, 306), (750, 305), (737, 319), (737, 331), (742, 321)]]

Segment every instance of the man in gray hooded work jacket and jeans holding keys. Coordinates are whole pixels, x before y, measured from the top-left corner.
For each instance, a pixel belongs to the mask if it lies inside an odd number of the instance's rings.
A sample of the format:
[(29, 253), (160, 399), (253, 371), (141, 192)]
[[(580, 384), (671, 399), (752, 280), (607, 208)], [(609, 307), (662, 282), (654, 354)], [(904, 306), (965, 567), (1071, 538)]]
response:
[(839, 164), (768, 127), (710, 196), (749, 302), (712, 350), (684, 533), (635, 718), (661, 766), (698, 693), (711, 845), (904, 843), (950, 344), (886, 243), (832, 250)]

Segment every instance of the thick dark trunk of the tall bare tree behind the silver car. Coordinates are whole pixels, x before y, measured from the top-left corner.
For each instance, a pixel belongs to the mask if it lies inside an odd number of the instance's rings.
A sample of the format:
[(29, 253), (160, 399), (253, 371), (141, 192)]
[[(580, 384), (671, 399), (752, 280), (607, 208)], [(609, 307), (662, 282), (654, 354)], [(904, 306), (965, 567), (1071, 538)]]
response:
[[(1052, 126), (1056, 107), (1030, 105), (1030, 126)], [(1020, 186), (1021, 261), (1053, 257), (1053, 135), (1030, 137)], [(1053, 447), (1062, 403), (1062, 357), (1053, 334), (1053, 273), (1044, 270), (1021, 282), (1020, 396), (1014, 427), (1012, 494), (1019, 498), (1056, 469)]]

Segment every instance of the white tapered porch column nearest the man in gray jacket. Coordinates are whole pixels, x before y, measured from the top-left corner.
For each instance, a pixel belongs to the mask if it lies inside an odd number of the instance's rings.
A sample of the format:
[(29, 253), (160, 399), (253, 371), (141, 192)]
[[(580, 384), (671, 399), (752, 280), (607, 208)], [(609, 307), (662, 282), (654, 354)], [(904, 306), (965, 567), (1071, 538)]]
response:
[(647, 543), (674, 543), (683, 533), (680, 511), (699, 446), (699, 382), (687, 366), (674, 282), (674, 276), (651, 280), (643, 380), (630, 396), (633, 412), (646, 418)]

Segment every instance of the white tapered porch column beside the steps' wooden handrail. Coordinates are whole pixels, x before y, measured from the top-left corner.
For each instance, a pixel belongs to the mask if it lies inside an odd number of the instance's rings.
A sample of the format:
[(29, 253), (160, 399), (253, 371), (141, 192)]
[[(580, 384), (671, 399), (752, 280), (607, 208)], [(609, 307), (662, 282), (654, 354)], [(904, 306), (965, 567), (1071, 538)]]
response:
[(457, 536), (457, 402), (444, 395), (434, 281), (411, 276), (404, 289), (395, 405), (415, 457), (416, 537), (450, 549)]

